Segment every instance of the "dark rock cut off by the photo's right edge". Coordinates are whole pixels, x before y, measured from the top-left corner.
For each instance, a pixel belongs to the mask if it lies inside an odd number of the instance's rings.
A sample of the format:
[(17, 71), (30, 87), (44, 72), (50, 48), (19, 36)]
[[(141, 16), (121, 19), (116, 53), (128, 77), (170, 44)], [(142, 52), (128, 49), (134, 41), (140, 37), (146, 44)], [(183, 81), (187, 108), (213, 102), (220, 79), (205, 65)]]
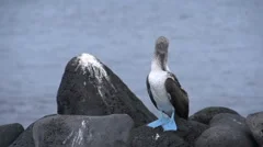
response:
[(252, 135), (259, 146), (263, 146), (263, 112), (248, 115), (245, 123), (248, 124)]

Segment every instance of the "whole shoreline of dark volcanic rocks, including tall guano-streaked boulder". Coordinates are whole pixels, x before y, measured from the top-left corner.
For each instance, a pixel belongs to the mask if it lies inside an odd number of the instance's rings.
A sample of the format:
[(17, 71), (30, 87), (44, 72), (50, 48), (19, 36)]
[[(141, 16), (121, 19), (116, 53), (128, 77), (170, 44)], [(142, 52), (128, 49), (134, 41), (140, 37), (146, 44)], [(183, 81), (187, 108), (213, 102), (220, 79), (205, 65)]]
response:
[[(190, 95), (191, 98), (191, 95)], [(241, 116), (209, 106), (179, 120), (179, 131), (146, 124), (156, 120), (103, 63), (89, 54), (66, 66), (57, 93), (57, 114), (26, 129), (0, 126), (0, 147), (262, 147), (263, 112)]]

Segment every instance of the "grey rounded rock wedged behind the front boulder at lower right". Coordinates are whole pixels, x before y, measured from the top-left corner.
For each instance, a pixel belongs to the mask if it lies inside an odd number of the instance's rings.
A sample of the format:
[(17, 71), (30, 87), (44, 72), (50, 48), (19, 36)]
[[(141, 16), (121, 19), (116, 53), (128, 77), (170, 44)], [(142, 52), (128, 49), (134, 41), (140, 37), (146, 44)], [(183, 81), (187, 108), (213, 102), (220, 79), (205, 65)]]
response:
[(215, 115), (209, 126), (229, 126), (233, 129), (241, 131), (243, 133), (250, 134), (249, 127), (245, 124), (245, 118), (238, 114), (230, 114), (230, 113), (220, 113)]

